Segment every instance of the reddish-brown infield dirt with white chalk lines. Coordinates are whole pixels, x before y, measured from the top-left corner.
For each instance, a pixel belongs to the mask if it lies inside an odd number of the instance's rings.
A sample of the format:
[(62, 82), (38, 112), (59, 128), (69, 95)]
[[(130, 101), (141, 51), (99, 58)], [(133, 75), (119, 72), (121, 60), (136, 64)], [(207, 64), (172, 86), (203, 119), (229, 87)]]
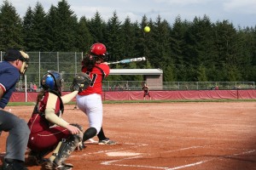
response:
[[(73, 107), (65, 106), (63, 118), (86, 129), (87, 117)], [(33, 106), (9, 109), (27, 121)], [(105, 133), (118, 144), (91, 139), (67, 159), (73, 169), (256, 169), (255, 102), (104, 104), (103, 109)], [(2, 160), (7, 135), (0, 138)]]

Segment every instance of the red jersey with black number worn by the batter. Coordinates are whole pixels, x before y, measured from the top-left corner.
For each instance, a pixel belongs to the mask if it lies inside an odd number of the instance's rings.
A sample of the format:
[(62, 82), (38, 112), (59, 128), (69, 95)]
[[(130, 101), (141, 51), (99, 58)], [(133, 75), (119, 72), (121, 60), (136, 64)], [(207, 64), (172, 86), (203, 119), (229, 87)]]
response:
[(89, 94), (102, 94), (102, 81), (105, 77), (109, 75), (109, 66), (106, 64), (96, 64), (92, 71), (87, 71), (87, 68), (82, 68), (82, 72), (88, 74), (91, 78), (90, 87), (84, 89), (79, 95), (89, 95)]

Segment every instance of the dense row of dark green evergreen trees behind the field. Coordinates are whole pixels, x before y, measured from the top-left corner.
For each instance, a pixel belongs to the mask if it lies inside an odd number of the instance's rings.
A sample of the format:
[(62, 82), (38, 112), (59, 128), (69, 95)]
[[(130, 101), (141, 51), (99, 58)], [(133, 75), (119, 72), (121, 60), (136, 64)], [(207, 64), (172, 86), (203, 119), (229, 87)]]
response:
[[(146, 56), (145, 62), (111, 65), (112, 69), (160, 68), (164, 82), (255, 82), (256, 24), (233, 26), (229, 20), (212, 22), (207, 15), (173, 23), (143, 15), (131, 22), (119, 20), (116, 11), (102, 20), (78, 18), (67, 0), (48, 11), (41, 3), (27, 7), (20, 18), (8, 0), (0, 4), (0, 51), (20, 48), (26, 52), (88, 52), (94, 42), (108, 48), (108, 61)], [(151, 31), (143, 31), (149, 26)], [(140, 77), (116, 77), (135, 80)]]

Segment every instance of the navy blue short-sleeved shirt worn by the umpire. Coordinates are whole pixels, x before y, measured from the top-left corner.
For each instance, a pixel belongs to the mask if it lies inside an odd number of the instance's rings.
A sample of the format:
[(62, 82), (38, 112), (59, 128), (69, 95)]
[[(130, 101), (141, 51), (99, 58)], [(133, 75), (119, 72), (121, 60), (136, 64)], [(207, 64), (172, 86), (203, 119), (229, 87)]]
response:
[[(15, 92), (16, 82), (20, 80), (20, 71), (7, 61), (0, 62), (0, 86), (5, 88), (2, 99), (0, 99), (0, 108), (8, 104), (13, 92)], [(1, 88), (0, 87), (0, 88)]]

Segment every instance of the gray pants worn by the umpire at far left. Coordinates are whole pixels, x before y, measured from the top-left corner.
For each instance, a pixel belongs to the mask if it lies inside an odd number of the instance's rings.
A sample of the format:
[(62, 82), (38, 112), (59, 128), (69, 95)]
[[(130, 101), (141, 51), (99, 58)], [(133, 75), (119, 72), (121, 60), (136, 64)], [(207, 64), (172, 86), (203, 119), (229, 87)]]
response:
[(9, 132), (4, 158), (25, 161), (25, 151), (30, 134), (26, 121), (7, 111), (0, 110), (0, 132)]

